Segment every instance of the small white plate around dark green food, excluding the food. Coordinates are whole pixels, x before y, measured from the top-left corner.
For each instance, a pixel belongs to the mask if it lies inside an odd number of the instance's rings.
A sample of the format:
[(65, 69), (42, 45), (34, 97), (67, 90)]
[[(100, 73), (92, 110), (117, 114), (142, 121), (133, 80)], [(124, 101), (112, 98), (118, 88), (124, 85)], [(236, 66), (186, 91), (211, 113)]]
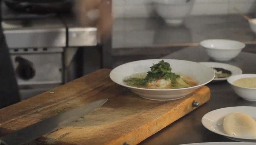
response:
[[(208, 66), (210, 68), (223, 68), (226, 70), (231, 71), (232, 75), (238, 75), (238, 74), (242, 74), (243, 71), (236, 67), (236, 66), (232, 66), (232, 65), (228, 65), (228, 64), (223, 64), (223, 63), (219, 63), (219, 62), (200, 62), (201, 64)], [(231, 76), (232, 76), (231, 75)], [(224, 78), (214, 78), (214, 81), (221, 81), (221, 80), (227, 80), (228, 77), (224, 77)]]

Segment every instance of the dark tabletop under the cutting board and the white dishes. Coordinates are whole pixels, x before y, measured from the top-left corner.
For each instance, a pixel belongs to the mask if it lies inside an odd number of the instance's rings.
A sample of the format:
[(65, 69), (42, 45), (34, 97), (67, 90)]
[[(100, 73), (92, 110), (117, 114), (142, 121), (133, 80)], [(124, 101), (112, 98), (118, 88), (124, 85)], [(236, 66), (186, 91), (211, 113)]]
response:
[[(203, 49), (194, 47), (182, 49), (162, 58), (183, 59), (196, 62), (213, 61)], [(242, 69), (243, 73), (256, 73), (253, 67), (256, 65), (256, 54), (241, 52), (236, 58), (230, 61), (222, 61)], [(160, 130), (156, 134), (147, 138), (141, 144), (147, 145), (177, 145), (185, 143), (199, 142), (230, 142), (232, 140), (222, 135), (213, 133), (204, 128), (201, 119), (202, 116), (212, 110), (231, 107), (231, 106), (255, 106), (256, 102), (250, 102), (239, 97), (227, 83), (219, 81), (207, 85), (211, 89), (211, 98), (196, 110), (185, 115), (181, 119)]]

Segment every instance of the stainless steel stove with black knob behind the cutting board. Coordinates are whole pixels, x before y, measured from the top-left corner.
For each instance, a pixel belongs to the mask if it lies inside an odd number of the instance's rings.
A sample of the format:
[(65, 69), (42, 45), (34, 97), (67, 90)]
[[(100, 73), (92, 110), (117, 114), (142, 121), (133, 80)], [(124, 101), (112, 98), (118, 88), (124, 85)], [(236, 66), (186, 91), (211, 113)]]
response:
[(22, 99), (74, 79), (77, 48), (97, 47), (97, 28), (77, 25), (71, 14), (21, 14), (2, 3), (2, 19)]

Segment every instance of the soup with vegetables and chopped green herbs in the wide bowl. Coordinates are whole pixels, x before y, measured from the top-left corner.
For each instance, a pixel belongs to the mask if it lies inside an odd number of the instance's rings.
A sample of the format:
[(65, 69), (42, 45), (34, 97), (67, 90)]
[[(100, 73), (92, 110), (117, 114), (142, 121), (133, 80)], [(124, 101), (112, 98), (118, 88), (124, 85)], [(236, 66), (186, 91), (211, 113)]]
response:
[(188, 76), (172, 72), (170, 64), (163, 60), (150, 67), (151, 71), (128, 76), (124, 83), (128, 86), (148, 89), (177, 89), (197, 85), (197, 81)]

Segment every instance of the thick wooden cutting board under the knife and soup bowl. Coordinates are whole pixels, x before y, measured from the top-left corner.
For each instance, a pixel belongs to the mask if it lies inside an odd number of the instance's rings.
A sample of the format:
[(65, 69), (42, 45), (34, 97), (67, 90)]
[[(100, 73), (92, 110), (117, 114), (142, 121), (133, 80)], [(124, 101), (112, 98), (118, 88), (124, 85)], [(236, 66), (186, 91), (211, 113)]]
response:
[(68, 84), (0, 110), (2, 133), (24, 128), (57, 113), (108, 98), (102, 107), (36, 140), (40, 144), (138, 144), (210, 99), (203, 86), (175, 101), (143, 99), (101, 69)]

